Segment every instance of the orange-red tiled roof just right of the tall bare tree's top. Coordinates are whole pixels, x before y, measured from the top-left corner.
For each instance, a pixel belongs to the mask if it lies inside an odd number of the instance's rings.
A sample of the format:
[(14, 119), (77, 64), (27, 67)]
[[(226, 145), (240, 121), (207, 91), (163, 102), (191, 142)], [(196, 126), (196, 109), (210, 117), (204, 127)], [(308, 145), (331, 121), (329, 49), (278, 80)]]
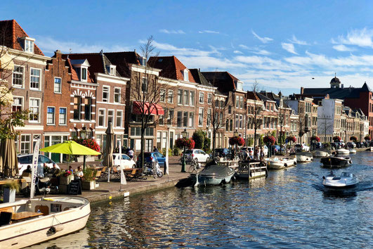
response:
[[(178, 80), (185, 80), (183, 72), (185, 69), (188, 69), (175, 56), (150, 57), (148, 60), (148, 66), (151, 68), (162, 69), (159, 73), (162, 77)], [(188, 72), (188, 78), (189, 82), (196, 82), (190, 70)]]

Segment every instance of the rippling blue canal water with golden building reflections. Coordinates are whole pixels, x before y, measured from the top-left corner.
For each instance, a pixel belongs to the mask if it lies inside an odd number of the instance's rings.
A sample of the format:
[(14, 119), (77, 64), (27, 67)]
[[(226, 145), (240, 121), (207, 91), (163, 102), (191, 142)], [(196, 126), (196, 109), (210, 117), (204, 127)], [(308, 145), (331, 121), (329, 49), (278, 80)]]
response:
[[(343, 171), (360, 184), (325, 191), (320, 159), (267, 179), (167, 189), (92, 208), (86, 229), (43, 248), (372, 248), (373, 153)], [(334, 170), (339, 174), (342, 170)]]

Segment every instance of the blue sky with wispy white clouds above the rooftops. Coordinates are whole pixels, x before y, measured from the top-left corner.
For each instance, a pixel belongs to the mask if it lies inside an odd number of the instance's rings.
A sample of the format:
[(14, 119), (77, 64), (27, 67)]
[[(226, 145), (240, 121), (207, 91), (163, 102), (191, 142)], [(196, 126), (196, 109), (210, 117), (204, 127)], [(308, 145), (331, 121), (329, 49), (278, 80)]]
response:
[(153, 36), (159, 56), (187, 68), (228, 71), (251, 90), (299, 93), (329, 87), (373, 89), (373, 1), (8, 1), (46, 56), (136, 51)]

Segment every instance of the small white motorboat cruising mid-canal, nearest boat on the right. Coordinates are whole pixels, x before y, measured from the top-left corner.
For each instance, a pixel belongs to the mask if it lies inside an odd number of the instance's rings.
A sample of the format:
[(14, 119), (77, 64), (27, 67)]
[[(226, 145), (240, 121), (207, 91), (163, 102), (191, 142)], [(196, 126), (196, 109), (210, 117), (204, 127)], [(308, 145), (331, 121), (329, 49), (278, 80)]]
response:
[(355, 174), (342, 172), (341, 177), (336, 177), (330, 172), (326, 177), (322, 177), (322, 185), (331, 189), (353, 188), (359, 183)]

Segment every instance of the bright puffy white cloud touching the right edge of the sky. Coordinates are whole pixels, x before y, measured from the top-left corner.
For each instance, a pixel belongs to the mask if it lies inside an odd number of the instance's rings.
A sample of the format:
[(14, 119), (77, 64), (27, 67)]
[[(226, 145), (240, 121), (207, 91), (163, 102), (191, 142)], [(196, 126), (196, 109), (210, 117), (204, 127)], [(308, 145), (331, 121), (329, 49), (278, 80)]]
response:
[[(346, 37), (340, 36), (337, 41), (340, 44), (346, 45), (356, 45), (356, 46), (368, 46), (373, 48), (373, 30), (367, 30), (363, 28), (362, 30), (351, 30), (347, 33)], [(333, 42), (334, 40), (332, 40)]]

